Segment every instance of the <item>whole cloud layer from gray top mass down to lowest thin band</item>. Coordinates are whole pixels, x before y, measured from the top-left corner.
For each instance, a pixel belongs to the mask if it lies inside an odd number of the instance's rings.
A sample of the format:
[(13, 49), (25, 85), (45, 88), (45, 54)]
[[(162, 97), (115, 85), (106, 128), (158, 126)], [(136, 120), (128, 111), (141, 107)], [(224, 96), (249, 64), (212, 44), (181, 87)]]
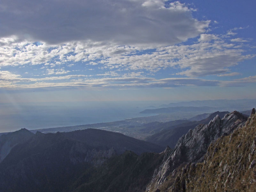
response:
[(234, 32), (244, 28), (214, 34), (210, 25), (218, 22), (195, 19), (193, 12), (191, 5), (164, 0), (3, 0), (0, 87), (165, 88), (254, 82), (252, 77), (230, 80), (243, 75), (233, 72), (234, 67), (255, 57), (248, 51), (254, 49), (250, 39)]

